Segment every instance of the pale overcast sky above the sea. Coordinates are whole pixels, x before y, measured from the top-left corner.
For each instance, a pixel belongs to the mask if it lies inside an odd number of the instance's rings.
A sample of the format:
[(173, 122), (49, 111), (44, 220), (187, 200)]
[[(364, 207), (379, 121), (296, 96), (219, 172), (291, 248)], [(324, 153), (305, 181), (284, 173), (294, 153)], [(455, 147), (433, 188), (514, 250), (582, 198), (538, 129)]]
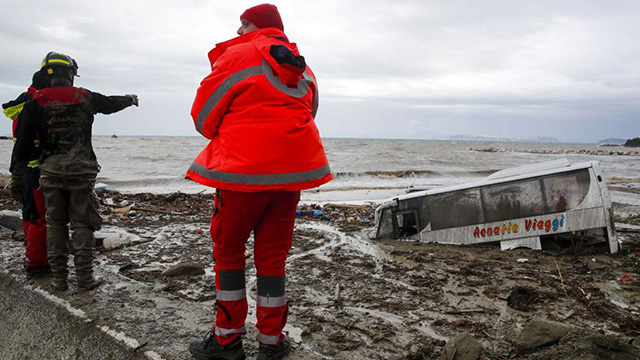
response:
[[(2, 102), (63, 52), (80, 65), (77, 86), (140, 97), (98, 115), (94, 133), (197, 136), (189, 112), (207, 52), (260, 2), (0, 3)], [(324, 137), (640, 136), (640, 1), (273, 3), (318, 78)]]

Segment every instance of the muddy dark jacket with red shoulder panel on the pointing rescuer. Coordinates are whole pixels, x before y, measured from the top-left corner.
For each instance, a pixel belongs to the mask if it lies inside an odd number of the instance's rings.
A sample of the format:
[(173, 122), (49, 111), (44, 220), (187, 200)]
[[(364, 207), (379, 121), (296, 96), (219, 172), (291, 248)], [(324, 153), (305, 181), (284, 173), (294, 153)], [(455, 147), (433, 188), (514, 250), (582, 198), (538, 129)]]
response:
[(91, 145), (93, 116), (120, 111), (132, 102), (130, 96), (104, 96), (72, 86), (37, 91), (20, 113), (11, 172), (40, 165), (43, 176), (95, 177), (100, 167)]

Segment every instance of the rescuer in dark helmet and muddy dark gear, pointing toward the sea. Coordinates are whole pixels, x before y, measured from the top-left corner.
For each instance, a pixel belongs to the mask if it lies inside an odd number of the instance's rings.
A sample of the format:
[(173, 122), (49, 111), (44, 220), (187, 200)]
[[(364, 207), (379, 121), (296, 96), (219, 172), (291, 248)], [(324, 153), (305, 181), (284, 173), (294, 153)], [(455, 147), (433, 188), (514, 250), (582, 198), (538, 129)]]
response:
[[(94, 231), (102, 218), (93, 191), (100, 169), (91, 144), (94, 114), (111, 114), (131, 105), (136, 95), (104, 96), (73, 86), (78, 64), (68, 55), (50, 52), (41, 71), (50, 87), (39, 90), (24, 104), (16, 128), (11, 170), (40, 169), (45, 198), (47, 257), (53, 288), (66, 290), (69, 224), (78, 290), (100, 284), (93, 276)], [(33, 144), (36, 136), (40, 146)]]

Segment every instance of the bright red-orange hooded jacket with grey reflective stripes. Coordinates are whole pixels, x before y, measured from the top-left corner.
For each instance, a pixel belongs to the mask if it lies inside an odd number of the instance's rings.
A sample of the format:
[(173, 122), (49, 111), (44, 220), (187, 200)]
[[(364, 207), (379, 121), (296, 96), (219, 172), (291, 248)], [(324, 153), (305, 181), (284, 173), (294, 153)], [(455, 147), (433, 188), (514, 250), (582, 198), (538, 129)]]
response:
[(332, 179), (314, 122), (315, 76), (275, 28), (216, 45), (191, 116), (211, 139), (186, 178), (226, 190), (297, 191)]

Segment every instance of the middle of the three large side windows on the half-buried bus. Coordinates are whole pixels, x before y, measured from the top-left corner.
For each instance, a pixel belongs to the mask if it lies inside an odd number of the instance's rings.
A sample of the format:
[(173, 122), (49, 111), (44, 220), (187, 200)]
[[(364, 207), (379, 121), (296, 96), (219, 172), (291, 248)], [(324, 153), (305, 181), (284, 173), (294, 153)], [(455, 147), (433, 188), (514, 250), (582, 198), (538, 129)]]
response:
[(514, 181), (482, 188), (485, 222), (505, 221), (545, 213), (538, 179)]

